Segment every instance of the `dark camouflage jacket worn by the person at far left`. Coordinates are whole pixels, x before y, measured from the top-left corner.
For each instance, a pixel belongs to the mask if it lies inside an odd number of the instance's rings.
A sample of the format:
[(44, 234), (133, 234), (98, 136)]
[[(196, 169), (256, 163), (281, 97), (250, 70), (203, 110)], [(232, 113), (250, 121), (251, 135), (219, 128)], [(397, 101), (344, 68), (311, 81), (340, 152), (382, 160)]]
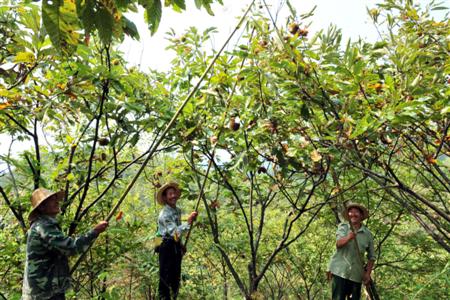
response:
[(94, 230), (67, 237), (56, 219), (39, 216), (27, 233), (22, 299), (49, 299), (70, 288), (68, 256), (81, 253), (95, 240)]

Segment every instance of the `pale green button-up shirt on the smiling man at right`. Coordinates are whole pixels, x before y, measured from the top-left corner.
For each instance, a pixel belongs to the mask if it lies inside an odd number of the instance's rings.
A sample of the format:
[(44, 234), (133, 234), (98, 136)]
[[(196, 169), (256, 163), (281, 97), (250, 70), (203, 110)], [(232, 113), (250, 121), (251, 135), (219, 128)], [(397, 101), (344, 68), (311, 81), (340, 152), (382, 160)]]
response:
[[(336, 231), (336, 241), (346, 237), (351, 231), (350, 224), (341, 223)], [(359, 252), (356, 250), (355, 241), (350, 240), (344, 247), (337, 248), (334, 255), (331, 257), (328, 270), (339, 277), (349, 279), (354, 282), (362, 282), (364, 268), (361, 265), (361, 258), (367, 252), (368, 260), (375, 260), (375, 251), (373, 247), (373, 237), (369, 229), (361, 225), (356, 233), (358, 240)], [(364, 260), (364, 258), (363, 258)]]

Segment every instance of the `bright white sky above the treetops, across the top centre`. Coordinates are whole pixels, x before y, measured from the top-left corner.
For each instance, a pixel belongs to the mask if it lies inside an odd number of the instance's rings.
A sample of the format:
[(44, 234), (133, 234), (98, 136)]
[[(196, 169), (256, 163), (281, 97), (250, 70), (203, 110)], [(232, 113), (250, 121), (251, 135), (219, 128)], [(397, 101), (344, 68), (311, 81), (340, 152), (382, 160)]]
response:
[[(207, 45), (214, 49), (219, 49), (225, 42), (228, 35), (236, 26), (244, 10), (251, 3), (251, 0), (223, 0), (224, 5), (213, 6), (215, 16), (210, 16), (202, 9), (198, 10), (193, 0), (186, 0), (187, 11), (183, 13), (174, 12), (170, 8), (163, 9), (162, 20), (158, 32), (151, 36), (147, 30), (142, 13), (129, 16), (135, 22), (140, 36), (140, 41), (126, 39), (120, 50), (124, 52), (125, 59), (130, 65), (140, 65), (141, 70), (148, 68), (165, 71), (170, 68), (170, 61), (173, 59), (172, 51), (165, 50), (168, 41), (165, 40), (166, 32), (173, 28), (177, 35), (191, 26), (199, 28), (200, 31), (214, 26), (218, 33), (213, 37), (213, 44)], [(297, 10), (297, 14), (309, 12), (315, 5), (314, 17), (308, 19), (312, 22), (308, 28), (310, 33), (320, 29), (326, 29), (330, 24), (342, 29), (344, 40), (348, 38), (356, 40), (358, 37), (374, 41), (377, 39), (375, 27), (367, 15), (366, 7), (373, 8), (379, 0), (291, 0), (290, 3)], [(262, 1), (256, 1), (257, 6)], [(286, 17), (290, 15), (285, 0), (266, 0), (275, 17), (277, 11), (279, 16), (277, 25), (280, 27), (286, 23)], [(267, 16), (267, 10), (261, 9)], [(240, 33), (236, 33), (239, 35)], [(232, 45), (231, 45), (232, 46)]]

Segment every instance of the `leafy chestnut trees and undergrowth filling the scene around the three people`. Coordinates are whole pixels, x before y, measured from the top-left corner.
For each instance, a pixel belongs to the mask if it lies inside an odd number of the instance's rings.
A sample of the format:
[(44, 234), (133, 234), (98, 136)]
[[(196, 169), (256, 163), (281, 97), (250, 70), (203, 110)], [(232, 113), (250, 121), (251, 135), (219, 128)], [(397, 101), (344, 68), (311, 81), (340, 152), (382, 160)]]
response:
[[(137, 37), (123, 16), (136, 5), (2, 7), (0, 130), (31, 142), (2, 156), (8, 299), (20, 293), (32, 190), (66, 191), (69, 234), (105, 218), (213, 59), (202, 45), (214, 29), (192, 29), (169, 33), (170, 72), (127, 67), (115, 45)], [(76, 269), (74, 297), (152, 298), (153, 193), (177, 180), (191, 209), (205, 177), (183, 297), (327, 298), (324, 271), (346, 200), (370, 209), (383, 297), (445, 297), (449, 23), (430, 17), (441, 7), (386, 1), (369, 11), (375, 44), (343, 44), (336, 28), (311, 36), (308, 15), (291, 9), (282, 25), (264, 6), (253, 9), (238, 46), (220, 56)], [(149, 12), (156, 30), (157, 10)], [(92, 14), (106, 23), (90, 24)]]

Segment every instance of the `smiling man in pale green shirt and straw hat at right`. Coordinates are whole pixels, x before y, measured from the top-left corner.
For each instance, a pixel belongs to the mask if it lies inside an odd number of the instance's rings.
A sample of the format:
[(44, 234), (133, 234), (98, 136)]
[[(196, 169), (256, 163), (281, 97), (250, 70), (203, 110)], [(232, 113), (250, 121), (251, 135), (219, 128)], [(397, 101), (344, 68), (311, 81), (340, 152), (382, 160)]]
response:
[[(361, 204), (351, 203), (343, 213), (348, 223), (341, 223), (336, 231), (336, 252), (328, 266), (332, 274), (332, 299), (357, 300), (361, 297), (361, 283), (368, 284), (375, 262), (373, 237), (362, 224), (369, 212)], [(364, 268), (364, 254), (367, 266)]]

